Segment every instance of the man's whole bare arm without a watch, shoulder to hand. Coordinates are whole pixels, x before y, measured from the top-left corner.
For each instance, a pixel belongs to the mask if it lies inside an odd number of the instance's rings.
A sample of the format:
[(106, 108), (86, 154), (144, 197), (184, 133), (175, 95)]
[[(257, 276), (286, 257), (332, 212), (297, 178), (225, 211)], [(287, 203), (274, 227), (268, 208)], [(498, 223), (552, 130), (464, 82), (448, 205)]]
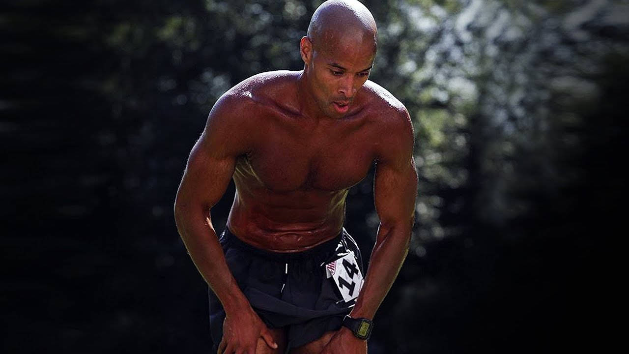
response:
[[(223, 304), (226, 320), (221, 349), (255, 351), (260, 336), (274, 346), (269, 330), (253, 312), (233, 278), (212, 225), (210, 208), (225, 193), (236, 159), (250, 149), (243, 114), (245, 98), (226, 93), (209, 113), (194, 144), (175, 199), (175, 222), (199, 273)], [(256, 333), (257, 331), (257, 333)], [(252, 351), (252, 352), (253, 352)], [(231, 353), (231, 351), (228, 351)]]

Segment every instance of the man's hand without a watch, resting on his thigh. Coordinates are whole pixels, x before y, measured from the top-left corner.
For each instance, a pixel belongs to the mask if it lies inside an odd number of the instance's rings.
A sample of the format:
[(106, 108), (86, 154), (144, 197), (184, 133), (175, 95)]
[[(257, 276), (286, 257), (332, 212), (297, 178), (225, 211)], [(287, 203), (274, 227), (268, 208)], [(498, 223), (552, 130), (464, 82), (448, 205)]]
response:
[(217, 354), (255, 354), (260, 338), (270, 348), (277, 348), (269, 328), (253, 309), (249, 307), (247, 310), (229, 314), (223, 321), (223, 340), (218, 346)]

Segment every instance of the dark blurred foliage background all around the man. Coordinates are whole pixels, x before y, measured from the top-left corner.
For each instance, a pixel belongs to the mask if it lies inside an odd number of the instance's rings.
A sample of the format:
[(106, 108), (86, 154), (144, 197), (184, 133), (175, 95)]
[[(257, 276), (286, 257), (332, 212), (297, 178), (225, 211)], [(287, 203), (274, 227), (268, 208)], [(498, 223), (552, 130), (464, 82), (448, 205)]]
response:
[[(216, 98), (303, 67), (320, 3), (3, 2), (4, 353), (209, 353), (175, 192)], [(411, 113), (420, 176), (369, 353), (603, 350), (629, 1), (364, 3), (380, 35), (370, 79)], [(365, 256), (372, 180), (347, 202)], [(233, 191), (212, 210), (219, 230)]]

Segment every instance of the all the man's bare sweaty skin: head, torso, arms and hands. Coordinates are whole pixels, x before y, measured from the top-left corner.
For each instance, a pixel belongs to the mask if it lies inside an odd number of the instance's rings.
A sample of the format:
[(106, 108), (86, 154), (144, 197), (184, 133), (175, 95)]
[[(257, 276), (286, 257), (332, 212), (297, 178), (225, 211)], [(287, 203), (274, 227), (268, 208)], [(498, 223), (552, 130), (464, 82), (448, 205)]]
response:
[[(299, 252), (339, 234), (348, 188), (375, 163), (381, 222), (350, 315), (372, 318), (396, 278), (408, 251), (417, 174), (406, 108), (367, 80), (376, 43), (375, 21), (362, 4), (327, 1), (301, 39), (302, 71), (250, 77), (209, 113), (177, 191), (175, 220), (225, 308), (220, 353), (281, 353), (286, 345), (286, 333), (269, 330), (238, 288), (211, 222), (210, 209), (232, 178), (230, 230), (257, 248)], [(366, 351), (343, 327), (291, 353)]]

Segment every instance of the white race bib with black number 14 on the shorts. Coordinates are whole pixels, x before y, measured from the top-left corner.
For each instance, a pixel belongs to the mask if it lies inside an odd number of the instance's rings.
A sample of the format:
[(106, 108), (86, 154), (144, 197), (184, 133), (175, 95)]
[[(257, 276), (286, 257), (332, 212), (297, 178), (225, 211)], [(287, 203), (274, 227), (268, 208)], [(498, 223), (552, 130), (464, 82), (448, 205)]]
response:
[(336, 261), (326, 264), (325, 273), (328, 278), (334, 280), (345, 302), (349, 302), (358, 297), (364, 280), (353, 251), (350, 251)]

